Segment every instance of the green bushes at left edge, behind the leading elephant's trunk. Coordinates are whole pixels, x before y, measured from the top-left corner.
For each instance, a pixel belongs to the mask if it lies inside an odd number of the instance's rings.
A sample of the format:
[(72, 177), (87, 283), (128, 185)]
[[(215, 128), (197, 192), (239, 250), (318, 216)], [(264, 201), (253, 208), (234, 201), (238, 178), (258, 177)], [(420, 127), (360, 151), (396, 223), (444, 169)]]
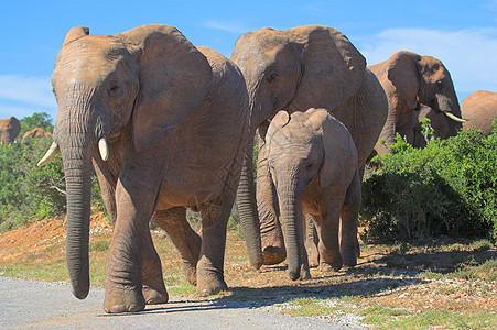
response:
[[(52, 131), (50, 116), (35, 113), (20, 120), (24, 131), (43, 128)], [(61, 154), (37, 167), (52, 138), (32, 139), (26, 144), (0, 146), (0, 232), (66, 210), (65, 180)], [(102, 209), (100, 189), (93, 176), (91, 204)]]

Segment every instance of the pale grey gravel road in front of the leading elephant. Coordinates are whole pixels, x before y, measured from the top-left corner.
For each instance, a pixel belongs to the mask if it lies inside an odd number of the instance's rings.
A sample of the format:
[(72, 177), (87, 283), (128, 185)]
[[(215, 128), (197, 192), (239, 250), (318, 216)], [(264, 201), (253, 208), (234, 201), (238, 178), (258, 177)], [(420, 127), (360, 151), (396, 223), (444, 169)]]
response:
[(0, 329), (358, 329), (346, 319), (289, 317), (250, 302), (170, 300), (142, 312), (107, 315), (101, 288), (93, 287), (78, 300), (66, 283), (0, 276)]

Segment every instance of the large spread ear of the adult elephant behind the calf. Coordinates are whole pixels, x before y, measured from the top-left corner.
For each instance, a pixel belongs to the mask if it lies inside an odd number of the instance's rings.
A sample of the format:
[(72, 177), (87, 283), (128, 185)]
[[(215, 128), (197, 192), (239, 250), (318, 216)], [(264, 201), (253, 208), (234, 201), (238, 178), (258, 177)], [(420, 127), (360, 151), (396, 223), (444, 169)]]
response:
[(288, 30), (303, 43), (304, 72), (294, 102), (301, 109), (334, 109), (363, 84), (366, 59), (339, 31), (321, 25)]

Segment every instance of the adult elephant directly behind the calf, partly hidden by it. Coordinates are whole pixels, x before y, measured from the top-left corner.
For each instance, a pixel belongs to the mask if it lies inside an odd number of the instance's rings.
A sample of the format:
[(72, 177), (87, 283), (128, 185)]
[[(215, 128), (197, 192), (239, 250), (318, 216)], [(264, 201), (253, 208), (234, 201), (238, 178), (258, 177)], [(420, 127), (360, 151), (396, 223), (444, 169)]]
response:
[(249, 32), (237, 41), (230, 58), (247, 81), (250, 136), (258, 129), (258, 206), (252, 150), (248, 147), (238, 187), (238, 208), (250, 263), (259, 268), (285, 258), (266, 150), (269, 120), (280, 110), (331, 110), (350, 131), (363, 170), (385, 124), (387, 98), (376, 76), (366, 68), (364, 56), (333, 28), (307, 25)]

